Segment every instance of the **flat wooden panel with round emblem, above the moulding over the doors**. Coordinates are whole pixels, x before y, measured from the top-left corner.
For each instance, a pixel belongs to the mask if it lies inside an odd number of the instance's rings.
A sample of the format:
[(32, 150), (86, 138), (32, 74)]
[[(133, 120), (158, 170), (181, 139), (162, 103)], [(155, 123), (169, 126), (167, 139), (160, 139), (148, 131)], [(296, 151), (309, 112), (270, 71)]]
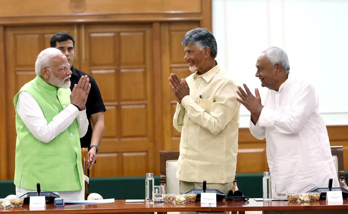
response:
[[(201, 0), (191, 0), (190, 6), (173, 0), (0, 0), (0, 17), (21, 16), (66, 16), (71, 14), (134, 14), (173, 13), (173, 11), (198, 13)], [(16, 5), (17, 7), (14, 7)], [(59, 6), (58, 6), (59, 5)], [(38, 6), (40, 6), (38, 8)]]

